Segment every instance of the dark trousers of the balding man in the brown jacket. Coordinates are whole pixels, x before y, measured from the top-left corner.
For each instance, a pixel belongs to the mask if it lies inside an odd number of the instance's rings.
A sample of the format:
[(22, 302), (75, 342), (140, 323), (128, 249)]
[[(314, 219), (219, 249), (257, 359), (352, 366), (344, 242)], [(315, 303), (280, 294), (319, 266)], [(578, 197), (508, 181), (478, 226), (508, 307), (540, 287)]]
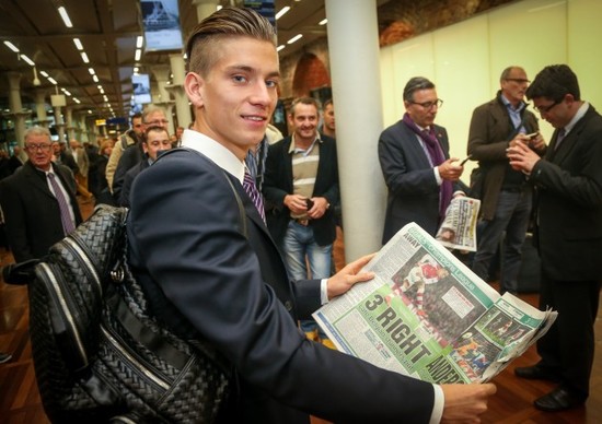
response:
[(518, 291), (518, 275), (521, 267), (522, 245), (531, 214), (531, 190), (500, 191), (496, 214), (485, 221), (477, 240), (478, 248), (473, 261), (473, 271), (486, 280), (491, 259), (500, 246), (506, 232), (501, 254), (500, 293)]

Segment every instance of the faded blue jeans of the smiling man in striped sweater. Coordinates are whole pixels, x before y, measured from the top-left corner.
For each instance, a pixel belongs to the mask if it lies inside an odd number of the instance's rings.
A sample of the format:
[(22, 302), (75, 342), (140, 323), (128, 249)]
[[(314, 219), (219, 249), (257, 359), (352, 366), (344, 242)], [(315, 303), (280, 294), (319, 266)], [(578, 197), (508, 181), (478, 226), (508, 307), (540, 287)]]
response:
[[(289, 226), (282, 239), (285, 263), (291, 280), (327, 279), (331, 276), (333, 245), (319, 246), (313, 237), (311, 225), (304, 226), (289, 221)], [(310, 273), (308, 266), (310, 264)], [(314, 320), (301, 320), (301, 329), (311, 332), (317, 328)], [(320, 330), (320, 329), (319, 329)], [(320, 337), (325, 334), (320, 330)]]

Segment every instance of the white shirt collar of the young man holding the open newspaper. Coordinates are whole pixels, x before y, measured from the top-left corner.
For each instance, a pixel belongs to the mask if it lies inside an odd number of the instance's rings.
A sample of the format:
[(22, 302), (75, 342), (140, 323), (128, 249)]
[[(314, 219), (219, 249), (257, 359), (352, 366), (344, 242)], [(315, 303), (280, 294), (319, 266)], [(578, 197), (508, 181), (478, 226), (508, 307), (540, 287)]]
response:
[(243, 184), (244, 163), (216, 140), (198, 131), (185, 129), (182, 134), (182, 145), (202, 153), (211, 162)]

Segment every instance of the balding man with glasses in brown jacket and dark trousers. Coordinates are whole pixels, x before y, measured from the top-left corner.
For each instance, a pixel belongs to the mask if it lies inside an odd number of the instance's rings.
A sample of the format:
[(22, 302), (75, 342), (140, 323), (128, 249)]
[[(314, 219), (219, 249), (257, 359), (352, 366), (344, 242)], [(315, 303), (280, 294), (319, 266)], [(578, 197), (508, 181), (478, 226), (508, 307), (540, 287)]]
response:
[[(477, 234), (477, 251), (473, 271), (488, 281), (491, 261), (500, 250), (500, 293), (518, 292), (522, 246), (531, 215), (532, 189), (525, 175), (510, 167), (506, 150), (523, 143), (537, 151), (545, 148), (539, 133), (537, 118), (526, 110), (524, 93), (529, 80), (524, 69), (509, 67), (499, 79), (501, 90), (493, 101), (473, 111), (468, 132), (468, 155), (478, 161), (481, 192), (472, 192), (481, 203), (481, 223)], [(528, 136), (531, 134), (531, 136)], [(497, 271), (497, 269), (496, 269)], [(491, 271), (493, 272), (493, 271)]]

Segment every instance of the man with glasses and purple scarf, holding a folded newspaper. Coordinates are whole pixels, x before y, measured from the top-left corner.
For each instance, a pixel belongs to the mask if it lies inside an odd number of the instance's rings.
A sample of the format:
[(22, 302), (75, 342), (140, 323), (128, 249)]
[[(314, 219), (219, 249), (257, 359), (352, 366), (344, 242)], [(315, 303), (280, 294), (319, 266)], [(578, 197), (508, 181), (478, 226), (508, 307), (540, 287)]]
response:
[(452, 196), (463, 192), (464, 167), (450, 158), (448, 131), (435, 125), (443, 101), (422, 76), (404, 89), (406, 113), (379, 139), (379, 161), (389, 188), (382, 243), (416, 222), (435, 237)]

